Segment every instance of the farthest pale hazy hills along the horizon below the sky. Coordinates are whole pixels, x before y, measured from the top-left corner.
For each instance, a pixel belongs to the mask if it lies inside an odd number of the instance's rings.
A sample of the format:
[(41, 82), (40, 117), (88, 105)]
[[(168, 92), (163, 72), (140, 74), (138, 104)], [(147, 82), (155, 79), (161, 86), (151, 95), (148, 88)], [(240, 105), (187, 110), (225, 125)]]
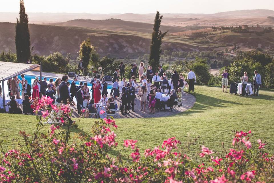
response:
[[(156, 13), (156, 12), (155, 12)], [(92, 14), (92, 13), (28, 13), (30, 23), (56, 23), (65, 22), (72, 19), (93, 19), (93, 20), (105, 20), (109, 18), (116, 18), (125, 21), (136, 21), (144, 23), (153, 23), (155, 13), (147, 14), (134, 14), (134, 13), (110, 13), (110, 14)], [(168, 24), (170, 21), (167, 18), (171, 18), (171, 22), (178, 22), (176, 19), (182, 18), (199, 18), (199, 19), (232, 19), (232, 18), (267, 18), (268, 16), (274, 16), (273, 10), (268, 9), (254, 9), (254, 10), (237, 10), (219, 12), (213, 14), (202, 13), (162, 13), (164, 16), (162, 23)], [(0, 22), (16, 22), (18, 13), (5, 13), (0, 12)]]

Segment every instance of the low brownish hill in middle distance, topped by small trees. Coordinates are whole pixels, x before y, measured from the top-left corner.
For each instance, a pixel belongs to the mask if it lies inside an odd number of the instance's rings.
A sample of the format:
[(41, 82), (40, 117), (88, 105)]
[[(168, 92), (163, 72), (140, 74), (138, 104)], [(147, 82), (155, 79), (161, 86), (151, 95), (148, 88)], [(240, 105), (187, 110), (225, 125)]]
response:
[[(143, 33), (152, 33), (153, 24), (124, 21), (120, 19), (108, 19), (108, 20), (90, 20), (90, 19), (76, 19), (60, 23), (52, 23), (50, 25), (63, 25), (63, 26), (77, 26), (77, 27), (90, 27), (94, 29), (106, 29), (113, 31), (137, 31)], [(162, 31), (168, 31), (170, 33), (187, 31), (183, 27), (174, 26), (161, 26)]]

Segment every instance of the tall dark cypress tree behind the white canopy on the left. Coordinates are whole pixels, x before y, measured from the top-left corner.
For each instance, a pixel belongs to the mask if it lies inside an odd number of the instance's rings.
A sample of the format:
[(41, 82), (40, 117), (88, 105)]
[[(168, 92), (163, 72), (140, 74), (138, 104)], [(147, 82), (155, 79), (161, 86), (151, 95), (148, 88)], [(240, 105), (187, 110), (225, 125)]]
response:
[(19, 20), (15, 25), (15, 45), (17, 61), (25, 63), (31, 57), (31, 43), (29, 40), (29, 17), (26, 14), (24, 1), (20, 0)]

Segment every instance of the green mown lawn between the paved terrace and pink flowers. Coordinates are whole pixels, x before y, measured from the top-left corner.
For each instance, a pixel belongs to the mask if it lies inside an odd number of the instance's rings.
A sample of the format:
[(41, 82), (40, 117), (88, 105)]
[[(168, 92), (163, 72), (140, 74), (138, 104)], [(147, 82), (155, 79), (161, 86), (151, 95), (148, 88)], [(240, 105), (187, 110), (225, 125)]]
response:
[[(143, 152), (173, 136), (183, 142), (183, 148), (187, 141), (200, 136), (189, 155), (198, 151), (202, 144), (213, 150), (221, 150), (221, 142), (225, 147), (231, 145), (233, 130), (251, 130), (255, 136), (251, 142), (255, 143), (258, 138), (266, 140), (269, 142), (267, 150), (274, 153), (274, 92), (261, 90), (260, 96), (255, 98), (223, 93), (221, 90), (218, 87), (196, 86), (194, 96), (197, 101), (194, 107), (178, 115), (116, 120), (118, 147), (112, 154), (116, 155), (117, 150), (125, 152), (122, 146), (124, 139), (138, 140), (137, 145)], [(21, 140), (18, 135), (20, 130), (28, 133), (35, 131), (35, 116), (0, 114), (0, 118), (0, 139), (5, 150), (16, 146), (13, 139)], [(80, 119), (77, 122), (79, 128), (74, 130), (72, 136), (76, 138), (83, 131), (90, 133), (93, 121)]]

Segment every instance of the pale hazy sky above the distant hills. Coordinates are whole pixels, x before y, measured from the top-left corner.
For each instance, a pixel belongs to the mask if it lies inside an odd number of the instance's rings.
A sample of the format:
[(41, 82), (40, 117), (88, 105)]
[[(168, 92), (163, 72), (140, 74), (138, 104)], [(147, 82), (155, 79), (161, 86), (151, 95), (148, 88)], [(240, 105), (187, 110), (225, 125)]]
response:
[[(273, 9), (273, 0), (25, 0), (27, 12), (217, 13)], [(0, 12), (18, 12), (19, 0), (0, 0)]]

